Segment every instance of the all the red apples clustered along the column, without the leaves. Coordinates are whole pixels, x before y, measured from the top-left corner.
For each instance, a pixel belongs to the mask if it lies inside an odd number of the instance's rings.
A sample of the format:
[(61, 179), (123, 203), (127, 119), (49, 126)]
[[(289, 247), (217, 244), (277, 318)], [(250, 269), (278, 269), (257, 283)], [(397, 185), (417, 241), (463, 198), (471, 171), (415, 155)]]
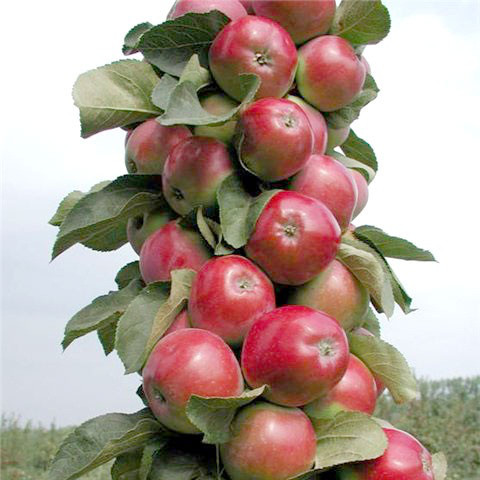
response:
[[(188, 309), (153, 349), (143, 388), (156, 418), (182, 434), (200, 430), (186, 414), (192, 395), (236, 397), (266, 385), (238, 411), (220, 446), (232, 480), (283, 480), (312, 468), (312, 419), (342, 410), (374, 412), (382, 382), (349, 353), (346, 331), (362, 328), (370, 298), (336, 254), (342, 233), (365, 207), (367, 181), (326, 155), (348, 137), (322, 112), (350, 104), (369, 66), (349, 42), (328, 35), (335, 0), (178, 0), (169, 18), (219, 10), (229, 22), (209, 50), (218, 86), (203, 108), (226, 113), (245, 97), (242, 74), (261, 83), (237, 118), (214, 126), (147, 120), (127, 133), (129, 173), (162, 175), (171, 210), (132, 218), (128, 238), (148, 284), (197, 272)], [(193, 131), (192, 131), (193, 130)], [(201, 207), (218, 214), (217, 191), (236, 173), (254, 193), (278, 190), (259, 214), (244, 250), (212, 256), (181, 221)], [(386, 428), (383, 456), (340, 467), (347, 479), (432, 480), (428, 451)]]

